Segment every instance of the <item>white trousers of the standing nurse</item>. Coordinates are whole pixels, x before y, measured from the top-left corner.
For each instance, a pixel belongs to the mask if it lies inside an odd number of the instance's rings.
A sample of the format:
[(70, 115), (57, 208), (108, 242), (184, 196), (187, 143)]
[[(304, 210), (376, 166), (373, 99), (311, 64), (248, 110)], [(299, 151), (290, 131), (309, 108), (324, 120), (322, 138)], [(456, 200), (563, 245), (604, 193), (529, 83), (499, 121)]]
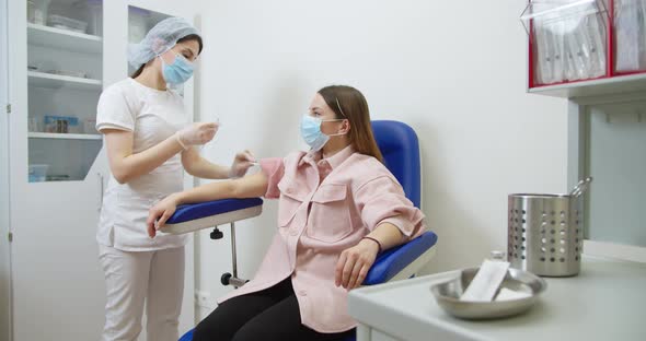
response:
[(107, 303), (102, 341), (135, 341), (146, 302), (148, 341), (177, 341), (184, 294), (184, 247), (122, 251), (99, 246)]

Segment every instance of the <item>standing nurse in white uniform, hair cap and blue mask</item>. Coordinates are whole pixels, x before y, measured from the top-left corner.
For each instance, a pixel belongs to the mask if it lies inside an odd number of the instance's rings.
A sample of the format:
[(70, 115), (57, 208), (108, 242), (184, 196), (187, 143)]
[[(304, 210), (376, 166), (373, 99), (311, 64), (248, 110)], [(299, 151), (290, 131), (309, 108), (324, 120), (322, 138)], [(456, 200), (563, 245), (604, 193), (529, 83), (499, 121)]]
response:
[(104, 341), (137, 340), (145, 302), (148, 340), (177, 340), (187, 236), (150, 238), (148, 210), (183, 189), (184, 170), (210, 179), (240, 177), (253, 160), (239, 153), (228, 167), (200, 157), (195, 146), (209, 142), (218, 124), (189, 124), (182, 97), (166, 87), (192, 77), (201, 48), (188, 22), (166, 19), (131, 46), (131, 78), (99, 99), (96, 130), (104, 134), (112, 170), (96, 234), (107, 289)]

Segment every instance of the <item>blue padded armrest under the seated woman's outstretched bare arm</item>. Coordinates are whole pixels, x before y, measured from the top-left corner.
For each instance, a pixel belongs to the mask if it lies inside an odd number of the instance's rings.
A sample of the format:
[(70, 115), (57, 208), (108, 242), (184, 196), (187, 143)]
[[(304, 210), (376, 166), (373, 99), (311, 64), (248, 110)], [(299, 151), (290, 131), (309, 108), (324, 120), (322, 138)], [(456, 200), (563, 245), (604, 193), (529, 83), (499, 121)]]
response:
[(263, 199), (222, 199), (182, 204), (166, 221), (162, 232), (182, 234), (229, 224), (263, 212)]

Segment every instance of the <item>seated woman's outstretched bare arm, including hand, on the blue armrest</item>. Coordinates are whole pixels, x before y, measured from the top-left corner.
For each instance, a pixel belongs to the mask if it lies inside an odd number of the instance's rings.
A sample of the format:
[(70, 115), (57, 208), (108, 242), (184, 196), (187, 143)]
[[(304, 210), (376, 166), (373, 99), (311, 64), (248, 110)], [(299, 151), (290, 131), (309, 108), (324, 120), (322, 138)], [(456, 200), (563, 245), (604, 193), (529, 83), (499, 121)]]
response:
[[(254, 198), (265, 195), (267, 191), (267, 176), (258, 172), (243, 178), (210, 183), (182, 192), (168, 196), (152, 207), (148, 214), (148, 235), (154, 237), (155, 231), (175, 213), (177, 205), (212, 201), (227, 198)], [(157, 222), (157, 223), (155, 223)]]

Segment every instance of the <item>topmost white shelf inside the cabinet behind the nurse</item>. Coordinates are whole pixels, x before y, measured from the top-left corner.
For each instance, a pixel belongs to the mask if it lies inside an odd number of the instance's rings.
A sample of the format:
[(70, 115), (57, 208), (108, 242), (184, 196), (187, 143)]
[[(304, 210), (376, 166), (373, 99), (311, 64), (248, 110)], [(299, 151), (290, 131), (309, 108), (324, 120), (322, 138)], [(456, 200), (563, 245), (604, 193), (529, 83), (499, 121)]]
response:
[(73, 52), (100, 55), (103, 38), (73, 31), (27, 23), (27, 42)]

